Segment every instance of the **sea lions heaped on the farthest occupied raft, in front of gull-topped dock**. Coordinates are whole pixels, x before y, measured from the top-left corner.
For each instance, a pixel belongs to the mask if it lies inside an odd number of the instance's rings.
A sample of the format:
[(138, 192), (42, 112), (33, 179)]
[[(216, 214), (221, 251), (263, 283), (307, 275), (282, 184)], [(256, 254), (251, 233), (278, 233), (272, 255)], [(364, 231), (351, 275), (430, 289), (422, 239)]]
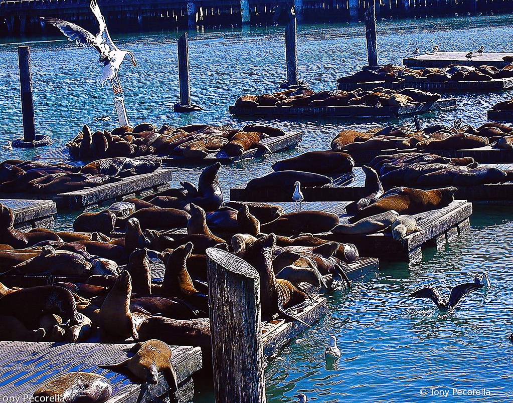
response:
[(497, 78), (513, 77), (513, 66), (508, 65), (502, 70), (495, 66), (479, 67), (451, 64), (444, 68), (427, 67), (412, 69), (406, 66), (385, 65), (374, 70), (360, 70), (354, 74), (341, 77), (337, 83), (445, 83), (462, 81), (489, 81)]

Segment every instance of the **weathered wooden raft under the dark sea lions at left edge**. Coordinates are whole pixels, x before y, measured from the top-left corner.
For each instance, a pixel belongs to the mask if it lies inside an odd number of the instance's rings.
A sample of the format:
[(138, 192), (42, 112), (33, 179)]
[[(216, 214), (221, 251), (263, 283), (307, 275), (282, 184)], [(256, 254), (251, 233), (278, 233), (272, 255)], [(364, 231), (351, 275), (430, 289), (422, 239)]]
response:
[(86, 206), (101, 204), (107, 200), (122, 200), (127, 197), (144, 197), (169, 189), (170, 169), (133, 175), (110, 184), (95, 186), (74, 192), (55, 194), (0, 193), (0, 196), (14, 199), (53, 200), (57, 209), (81, 210)]

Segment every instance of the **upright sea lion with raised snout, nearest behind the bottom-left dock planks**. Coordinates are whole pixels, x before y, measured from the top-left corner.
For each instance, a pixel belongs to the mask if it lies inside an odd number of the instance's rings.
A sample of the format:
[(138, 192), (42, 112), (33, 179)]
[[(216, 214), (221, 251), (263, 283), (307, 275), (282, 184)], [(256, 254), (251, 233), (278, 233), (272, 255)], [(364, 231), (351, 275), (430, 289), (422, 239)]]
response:
[(129, 337), (137, 340), (139, 338), (137, 328), (142, 320), (138, 319), (146, 318), (146, 315), (135, 313), (132, 315), (130, 312), (131, 294), (132, 279), (130, 273), (124, 271), (117, 277), (114, 287), (100, 308), (100, 339), (102, 341), (121, 341)]

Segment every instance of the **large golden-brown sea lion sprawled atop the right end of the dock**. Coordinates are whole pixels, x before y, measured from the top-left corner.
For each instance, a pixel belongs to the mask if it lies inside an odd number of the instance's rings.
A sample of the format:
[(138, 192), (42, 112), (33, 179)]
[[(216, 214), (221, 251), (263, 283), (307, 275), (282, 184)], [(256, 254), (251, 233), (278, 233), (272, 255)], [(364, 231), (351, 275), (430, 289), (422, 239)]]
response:
[(413, 215), (441, 209), (453, 202), (457, 190), (454, 187), (427, 191), (405, 187), (390, 189), (376, 203), (358, 211), (355, 217), (349, 219), (349, 222), (354, 223), (358, 219), (384, 213), (388, 210), (395, 210), (401, 215)]

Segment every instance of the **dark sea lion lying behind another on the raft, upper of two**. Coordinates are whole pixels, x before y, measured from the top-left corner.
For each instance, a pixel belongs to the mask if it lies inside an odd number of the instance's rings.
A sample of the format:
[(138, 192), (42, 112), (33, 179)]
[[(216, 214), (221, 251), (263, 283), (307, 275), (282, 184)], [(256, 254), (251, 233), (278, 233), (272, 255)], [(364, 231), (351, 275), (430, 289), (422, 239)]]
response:
[(321, 175), (351, 172), (354, 160), (349, 154), (337, 151), (309, 151), (271, 165), (274, 171), (303, 171)]

